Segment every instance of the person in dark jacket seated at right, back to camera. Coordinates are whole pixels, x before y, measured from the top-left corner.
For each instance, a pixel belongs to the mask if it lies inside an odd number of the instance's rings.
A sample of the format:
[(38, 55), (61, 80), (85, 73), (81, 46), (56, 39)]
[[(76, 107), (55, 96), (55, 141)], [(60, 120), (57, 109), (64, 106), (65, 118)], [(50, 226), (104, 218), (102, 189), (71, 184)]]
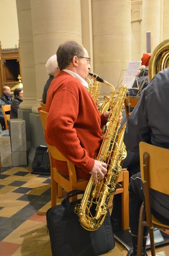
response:
[[(169, 149), (169, 68), (158, 72), (144, 90), (139, 103), (128, 117), (124, 143), (132, 152), (139, 152), (139, 142), (147, 142)], [(162, 173), (161, 173), (162, 175)], [(158, 191), (150, 191), (151, 209), (156, 219), (169, 225), (169, 196)], [(144, 184), (140, 173), (130, 178), (129, 219), (133, 247), (127, 256), (136, 256), (139, 211), (144, 201)], [(146, 256), (148, 228), (144, 228), (142, 255)]]

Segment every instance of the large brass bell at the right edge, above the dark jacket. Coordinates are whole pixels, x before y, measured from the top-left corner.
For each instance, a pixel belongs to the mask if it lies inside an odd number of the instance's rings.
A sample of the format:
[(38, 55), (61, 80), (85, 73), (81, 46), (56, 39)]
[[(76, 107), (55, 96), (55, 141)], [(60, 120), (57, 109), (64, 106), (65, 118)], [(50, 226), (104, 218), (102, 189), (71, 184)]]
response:
[(161, 42), (150, 57), (149, 62), (149, 81), (161, 70), (169, 67), (169, 39)]

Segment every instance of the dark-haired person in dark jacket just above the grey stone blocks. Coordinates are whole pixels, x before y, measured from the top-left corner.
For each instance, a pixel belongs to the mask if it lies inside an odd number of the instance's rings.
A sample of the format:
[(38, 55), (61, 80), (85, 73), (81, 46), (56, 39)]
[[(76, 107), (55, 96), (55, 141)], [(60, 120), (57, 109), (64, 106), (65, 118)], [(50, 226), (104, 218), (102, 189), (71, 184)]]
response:
[(23, 101), (23, 91), (20, 88), (14, 90), (14, 100), (11, 103), (10, 119), (18, 118), (18, 109)]

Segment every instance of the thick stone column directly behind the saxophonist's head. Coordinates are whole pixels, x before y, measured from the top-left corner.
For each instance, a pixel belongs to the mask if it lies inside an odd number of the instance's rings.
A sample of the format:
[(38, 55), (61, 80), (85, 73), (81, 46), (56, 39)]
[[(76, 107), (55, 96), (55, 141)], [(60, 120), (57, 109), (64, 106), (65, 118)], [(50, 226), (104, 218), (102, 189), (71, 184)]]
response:
[(32, 11), (33, 44), (35, 53), (37, 107), (47, 80), (45, 64), (58, 46), (74, 40), (82, 43), (80, 0), (30, 0)]

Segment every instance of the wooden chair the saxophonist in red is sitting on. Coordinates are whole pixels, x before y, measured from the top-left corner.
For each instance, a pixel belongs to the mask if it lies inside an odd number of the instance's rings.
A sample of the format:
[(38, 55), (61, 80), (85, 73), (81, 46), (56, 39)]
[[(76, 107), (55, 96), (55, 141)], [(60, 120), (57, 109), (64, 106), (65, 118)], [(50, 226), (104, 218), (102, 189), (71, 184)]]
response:
[[(42, 111), (41, 107), (38, 107), (38, 111), (41, 118), (43, 129), (45, 132), (48, 113), (45, 111)], [(77, 179), (74, 164), (72, 164), (70, 161), (65, 159), (65, 157), (59, 152), (59, 150), (57, 150), (56, 147), (50, 146), (50, 145), (47, 145), (47, 146), (49, 150), (49, 157), (50, 157), (50, 164), (51, 164), (51, 205), (55, 206), (56, 195), (57, 195), (57, 184), (59, 185), (58, 197), (61, 197), (62, 192), (60, 188), (63, 187), (67, 192), (73, 189), (85, 190), (88, 180)], [(59, 171), (57, 171), (57, 169), (53, 165), (52, 158), (67, 162), (68, 169), (69, 169), (69, 178), (64, 174), (60, 173)], [(121, 184), (119, 184), (119, 182)], [(117, 189), (116, 189), (116, 192), (114, 193), (114, 195), (122, 193), (122, 228), (123, 230), (129, 229), (128, 184), (129, 184), (128, 170), (123, 169), (118, 178)], [(76, 198), (74, 200), (76, 200)]]

